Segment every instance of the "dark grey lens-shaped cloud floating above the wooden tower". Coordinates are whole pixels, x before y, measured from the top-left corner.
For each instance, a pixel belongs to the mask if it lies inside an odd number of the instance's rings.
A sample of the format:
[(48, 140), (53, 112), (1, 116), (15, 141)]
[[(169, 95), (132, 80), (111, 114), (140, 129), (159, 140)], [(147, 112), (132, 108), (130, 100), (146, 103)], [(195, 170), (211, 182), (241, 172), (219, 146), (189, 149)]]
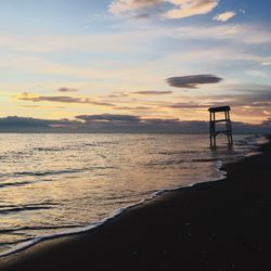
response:
[(214, 75), (190, 75), (167, 78), (166, 81), (170, 87), (185, 88), (185, 89), (197, 89), (198, 85), (203, 83), (217, 83), (222, 78)]

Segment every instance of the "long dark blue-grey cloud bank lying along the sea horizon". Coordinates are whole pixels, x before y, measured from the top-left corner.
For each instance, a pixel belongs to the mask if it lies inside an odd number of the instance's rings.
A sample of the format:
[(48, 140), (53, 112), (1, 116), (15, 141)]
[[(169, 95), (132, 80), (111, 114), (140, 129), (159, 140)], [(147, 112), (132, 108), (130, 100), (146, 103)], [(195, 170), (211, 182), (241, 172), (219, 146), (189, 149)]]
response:
[[(90, 121), (79, 121), (69, 119), (37, 119), (25, 117), (4, 117), (0, 118), (1, 132), (164, 132), (164, 133), (188, 133), (205, 132), (208, 133), (208, 121), (181, 121), (178, 118), (141, 118), (129, 115), (104, 114), (105, 120), (101, 119), (103, 115), (77, 116), (80, 118), (93, 118)], [(106, 117), (107, 115), (107, 117)], [(131, 120), (134, 117), (133, 120)], [(127, 120), (125, 120), (127, 119)], [(85, 119), (83, 119), (85, 120)], [(117, 121), (116, 121), (117, 120)], [(119, 121), (120, 120), (120, 121)], [(271, 119), (267, 118), (260, 125), (248, 125), (243, 122), (233, 122), (235, 132), (271, 132)], [(207, 137), (207, 134), (206, 134)]]

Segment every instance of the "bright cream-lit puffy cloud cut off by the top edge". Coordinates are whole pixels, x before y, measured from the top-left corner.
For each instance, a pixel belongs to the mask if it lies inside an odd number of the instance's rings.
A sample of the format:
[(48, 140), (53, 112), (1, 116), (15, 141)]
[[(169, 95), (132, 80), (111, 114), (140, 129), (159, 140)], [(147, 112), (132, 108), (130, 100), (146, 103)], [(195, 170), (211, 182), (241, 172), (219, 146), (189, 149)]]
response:
[(219, 0), (115, 0), (109, 12), (122, 17), (147, 17), (152, 14), (162, 18), (183, 18), (212, 11)]

